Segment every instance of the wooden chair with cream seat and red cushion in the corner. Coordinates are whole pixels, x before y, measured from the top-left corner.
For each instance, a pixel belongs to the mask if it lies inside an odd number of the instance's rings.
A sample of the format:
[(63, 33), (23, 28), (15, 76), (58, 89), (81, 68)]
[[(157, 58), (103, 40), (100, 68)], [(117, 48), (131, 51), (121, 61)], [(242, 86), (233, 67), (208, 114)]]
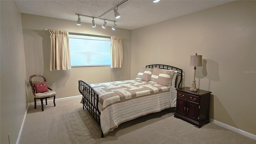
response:
[[(34, 77), (43, 78), (44, 82), (42, 82), (42, 83), (32, 83), (32, 78), (34, 78)], [(56, 94), (56, 92), (54, 92), (51, 88), (49, 88), (47, 86), (46, 78), (44, 76), (39, 75), (39, 74), (34, 74), (34, 75), (29, 77), (29, 83), (31, 85), (32, 92), (34, 94), (35, 109), (36, 109), (36, 100), (37, 99), (39, 99), (41, 101), (42, 111), (44, 111), (44, 104), (43, 104), (44, 99), (45, 99), (45, 102), (46, 102), (46, 105), (47, 105), (47, 98), (52, 98), (53, 97), (53, 103), (54, 103), (54, 106), (56, 106), (56, 104), (55, 104), (55, 94)], [(41, 89), (39, 89), (40, 87), (41, 87)], [(42, 89), (43, 89), (43, 91), (42, 91)]]

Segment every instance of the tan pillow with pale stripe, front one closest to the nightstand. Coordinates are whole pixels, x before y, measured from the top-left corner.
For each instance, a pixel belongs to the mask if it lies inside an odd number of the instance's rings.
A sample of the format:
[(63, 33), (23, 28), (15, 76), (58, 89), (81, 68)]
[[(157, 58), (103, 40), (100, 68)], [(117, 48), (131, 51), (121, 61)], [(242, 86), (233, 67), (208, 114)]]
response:
[(162, 84), (164, 86), (168, 86), (170, 88), (172, 84), (172, 76), (174, 74), (174, 70), (161, 70), (158, 75), (157, 84)]

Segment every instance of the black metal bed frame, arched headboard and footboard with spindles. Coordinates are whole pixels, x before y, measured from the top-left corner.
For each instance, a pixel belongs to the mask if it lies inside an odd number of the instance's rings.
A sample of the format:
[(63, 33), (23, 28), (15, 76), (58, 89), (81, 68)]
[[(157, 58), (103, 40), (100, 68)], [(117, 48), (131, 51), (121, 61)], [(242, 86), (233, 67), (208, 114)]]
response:
[[(177, 88), (177, 82), (179, 82), (178, 88), (180, 88), (180, 85), (182, 83), (182, 69), (176, 68), (174, 66), (164, 65), (164, 64), (147, 65), (146, 68), (161, 68), (166, 70), (177, 70), (175, 87)], [(90, 86), (90, 84), (88, 84), (83, 80), (78, 80), (78, 90), (82, 94), (83, 110), (84, 108), (86, 108), (88, 112), (92, 115), (94, 120), (100, 125), (100, 110), (98, 108), (99, 95), (92, 88), (92, 86)], [(102, 130), (101, 130), (101, 137), (102, 138), (104, 137)]]

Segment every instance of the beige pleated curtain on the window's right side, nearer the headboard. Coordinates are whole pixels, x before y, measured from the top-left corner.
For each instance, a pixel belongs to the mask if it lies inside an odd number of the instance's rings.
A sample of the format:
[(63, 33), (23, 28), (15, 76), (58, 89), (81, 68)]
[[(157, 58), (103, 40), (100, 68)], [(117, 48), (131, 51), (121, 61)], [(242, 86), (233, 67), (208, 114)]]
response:
[(123, 37), (120, 37), (120, 36), (111, 36), (111, 47), (110, 47), (111, 68), (122, 68), (122, 61), (123, 61), (122, 39)]

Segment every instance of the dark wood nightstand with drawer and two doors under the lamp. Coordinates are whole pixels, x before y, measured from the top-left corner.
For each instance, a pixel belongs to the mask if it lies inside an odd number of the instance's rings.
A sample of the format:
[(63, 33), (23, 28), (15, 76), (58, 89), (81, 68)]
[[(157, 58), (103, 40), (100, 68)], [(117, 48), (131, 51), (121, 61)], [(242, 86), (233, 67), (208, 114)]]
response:
[(177, 103), (175, 118), (180, 118), (201, 128), (202, 124), (209, 123), (210, 94), (212, 92), (199, 90), (193, 92), (189, 87), (177, 88)]

